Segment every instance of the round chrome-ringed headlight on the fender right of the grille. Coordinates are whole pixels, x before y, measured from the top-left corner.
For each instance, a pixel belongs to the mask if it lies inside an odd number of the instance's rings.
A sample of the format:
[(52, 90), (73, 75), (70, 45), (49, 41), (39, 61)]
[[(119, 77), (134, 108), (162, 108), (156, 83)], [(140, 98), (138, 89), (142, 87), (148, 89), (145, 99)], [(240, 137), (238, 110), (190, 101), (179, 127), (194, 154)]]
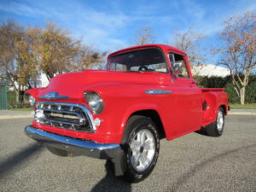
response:
[(104, 102), (102, 97), (99, 96), (96, 92), (87, 91), (84, 93), (84, 99), (88, 103), (91, 111), (96, 114), (102, 113), (104, 109)]

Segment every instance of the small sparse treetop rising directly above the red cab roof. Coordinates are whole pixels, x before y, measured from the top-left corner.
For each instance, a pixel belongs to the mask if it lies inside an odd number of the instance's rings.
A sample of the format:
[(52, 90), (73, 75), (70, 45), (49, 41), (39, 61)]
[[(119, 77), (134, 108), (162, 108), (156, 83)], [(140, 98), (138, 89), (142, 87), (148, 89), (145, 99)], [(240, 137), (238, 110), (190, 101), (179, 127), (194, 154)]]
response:
[(143, 26), (139, 32), (137, 32), (136, 44), (154, 44), (155, 37), (151, 33), (150, 26)]

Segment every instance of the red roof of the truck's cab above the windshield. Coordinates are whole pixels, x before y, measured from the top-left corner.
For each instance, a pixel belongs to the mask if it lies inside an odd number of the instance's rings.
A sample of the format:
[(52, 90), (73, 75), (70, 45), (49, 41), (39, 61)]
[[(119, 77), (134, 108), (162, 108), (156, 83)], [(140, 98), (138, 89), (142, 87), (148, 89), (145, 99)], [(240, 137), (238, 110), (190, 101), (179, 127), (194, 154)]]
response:
[(131, 50), (135, 50), (135, 49), (143, 49), (143, 48), (152, 48), (152, 47), (160, 48), (160, 49), (163, 49), (164, 51), (173, 51), (173, 52), (180, 53), (182, 55), (187, 55), (183, 50), (171, 47), (171, 46), (166, 45), (166, 44), (143, 44), (143, 45), (133, 46), (133, 47), (129, 47), (129, 48), (120, 49), (118, 51), (115, 51), (112, 54), (108, 55), (108, 59), (110, 57), (112, 57), (113, 55), (119, 55), (120, 53), (124, 53), (124, 52), (127, 52), (127, 51), (131, 51)]

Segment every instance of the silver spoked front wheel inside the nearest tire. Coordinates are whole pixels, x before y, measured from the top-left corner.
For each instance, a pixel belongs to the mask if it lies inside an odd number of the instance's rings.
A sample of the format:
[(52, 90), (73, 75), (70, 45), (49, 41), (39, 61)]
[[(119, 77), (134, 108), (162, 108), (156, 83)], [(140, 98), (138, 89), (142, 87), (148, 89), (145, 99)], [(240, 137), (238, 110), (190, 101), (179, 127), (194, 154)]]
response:
[(143, 172), (154, 159), (155, 141), (151, 131), (143, 129), (131, 138), (131, 166), (137, 172)]

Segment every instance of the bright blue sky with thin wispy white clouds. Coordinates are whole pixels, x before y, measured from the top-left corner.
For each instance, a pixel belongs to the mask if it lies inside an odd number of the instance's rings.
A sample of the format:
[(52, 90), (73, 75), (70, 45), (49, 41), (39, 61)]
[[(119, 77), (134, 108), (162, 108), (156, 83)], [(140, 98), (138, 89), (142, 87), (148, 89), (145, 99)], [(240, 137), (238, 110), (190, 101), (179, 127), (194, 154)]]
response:
[(255, 10), (255, 0), (0, 0), (0, 22), (44, 27), (49, 20), (110, 53), (134, 45), (143, 26), (151, 27), (156, 44), (171, 45), (173, 30), (192, 26), (207, 36), (204, 47), (214, 47), (224, 19)]

